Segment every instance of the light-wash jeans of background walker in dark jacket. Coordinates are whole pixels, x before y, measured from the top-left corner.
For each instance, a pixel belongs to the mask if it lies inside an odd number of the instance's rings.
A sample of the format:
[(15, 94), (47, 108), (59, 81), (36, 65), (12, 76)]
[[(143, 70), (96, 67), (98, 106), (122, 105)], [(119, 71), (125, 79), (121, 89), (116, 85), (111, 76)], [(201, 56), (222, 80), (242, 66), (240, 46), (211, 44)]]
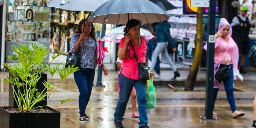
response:
[(171, 69), (176, 72), (177, 68), (174, 65), (174, 62), (171, 60), (168, 51), (167, 51), (168, 42), (158, 42), (156, 45), (156, 49), (154, 50), (152, 54), (152, 63), (150, 66), (150, 72), (153, 72), (155, 66), (156, 66), (156, 59), (159, 56), (159, 54), (162, 52), (163, 56), (167, 60), (167, 63), (171, 66)]

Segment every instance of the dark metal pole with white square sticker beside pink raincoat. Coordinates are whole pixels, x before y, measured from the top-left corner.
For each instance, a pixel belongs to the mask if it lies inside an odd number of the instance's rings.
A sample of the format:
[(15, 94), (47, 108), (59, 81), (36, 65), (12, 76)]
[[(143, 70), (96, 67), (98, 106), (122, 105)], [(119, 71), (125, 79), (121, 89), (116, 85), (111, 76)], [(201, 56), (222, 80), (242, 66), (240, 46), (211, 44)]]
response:
[(215, 7), (216, 1), (210, 0), (208, 11), (208, 41), (206, 53), (206, 98), (205, 98), (205, 117), (213, 119), (213, 70), (214, 70), (214, 45), (215, 45)]

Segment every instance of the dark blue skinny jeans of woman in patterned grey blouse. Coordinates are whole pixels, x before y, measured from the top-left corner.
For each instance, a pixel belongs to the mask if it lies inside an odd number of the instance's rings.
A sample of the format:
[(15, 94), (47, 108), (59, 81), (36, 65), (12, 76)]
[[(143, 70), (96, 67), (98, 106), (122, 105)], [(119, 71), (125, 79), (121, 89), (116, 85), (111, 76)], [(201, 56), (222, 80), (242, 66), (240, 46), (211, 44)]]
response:
[(78, 71), (74, 72), (74, 78), (76, 85), (79, 89), (79, 113), (80, 117), (85, 116), (85, 109), (90, 100), (91, 90), (93, 87), (93, 80), (95, 75), (95, 69), (79, 68)]

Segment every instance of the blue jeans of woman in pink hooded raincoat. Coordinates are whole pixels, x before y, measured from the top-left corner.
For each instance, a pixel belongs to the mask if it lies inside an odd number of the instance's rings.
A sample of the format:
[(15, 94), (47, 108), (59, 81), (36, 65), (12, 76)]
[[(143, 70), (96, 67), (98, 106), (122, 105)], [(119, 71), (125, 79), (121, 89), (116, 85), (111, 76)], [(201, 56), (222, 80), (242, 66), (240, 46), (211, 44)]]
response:
[[(226, 66), (229, 66), (229, 65), (220, 65), (219, 68), (226, 67)], [(233, 65), (232, 64), (231, 64), (231, 67), (230, 67), (230, 76), (227, 80), (223, 80), (223, 83), (224, 83), (225, 91), (226, 91), (226, 94), (227, 94), (227, 99), (228, 99), (228, 102), (230, 104), (231, 111), (233, 113), (234, 111), (236, 111), (236, 103), (234, 101), (234, 93), (233, 93), (234, 74), (233, 74)], [(217, 93), (218, 93), (219, 89), (213, 89), (213, 90), (214, 90), (213, 100), (214, 100), (214, 103), (215, 103), (216, 98), (217, 98)], [(214, 108), (214, 106), (213, 106), (213, 108)]]

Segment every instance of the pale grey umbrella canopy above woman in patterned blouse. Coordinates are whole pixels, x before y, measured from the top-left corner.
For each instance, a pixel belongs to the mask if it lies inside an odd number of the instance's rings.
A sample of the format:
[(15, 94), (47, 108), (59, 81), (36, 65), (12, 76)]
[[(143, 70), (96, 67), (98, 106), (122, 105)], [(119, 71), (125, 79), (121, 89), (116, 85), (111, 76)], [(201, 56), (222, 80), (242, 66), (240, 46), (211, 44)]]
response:
[(48, 7), (66, 9), (69, 11), (95, 11), (108, 0), (50, 0)]

